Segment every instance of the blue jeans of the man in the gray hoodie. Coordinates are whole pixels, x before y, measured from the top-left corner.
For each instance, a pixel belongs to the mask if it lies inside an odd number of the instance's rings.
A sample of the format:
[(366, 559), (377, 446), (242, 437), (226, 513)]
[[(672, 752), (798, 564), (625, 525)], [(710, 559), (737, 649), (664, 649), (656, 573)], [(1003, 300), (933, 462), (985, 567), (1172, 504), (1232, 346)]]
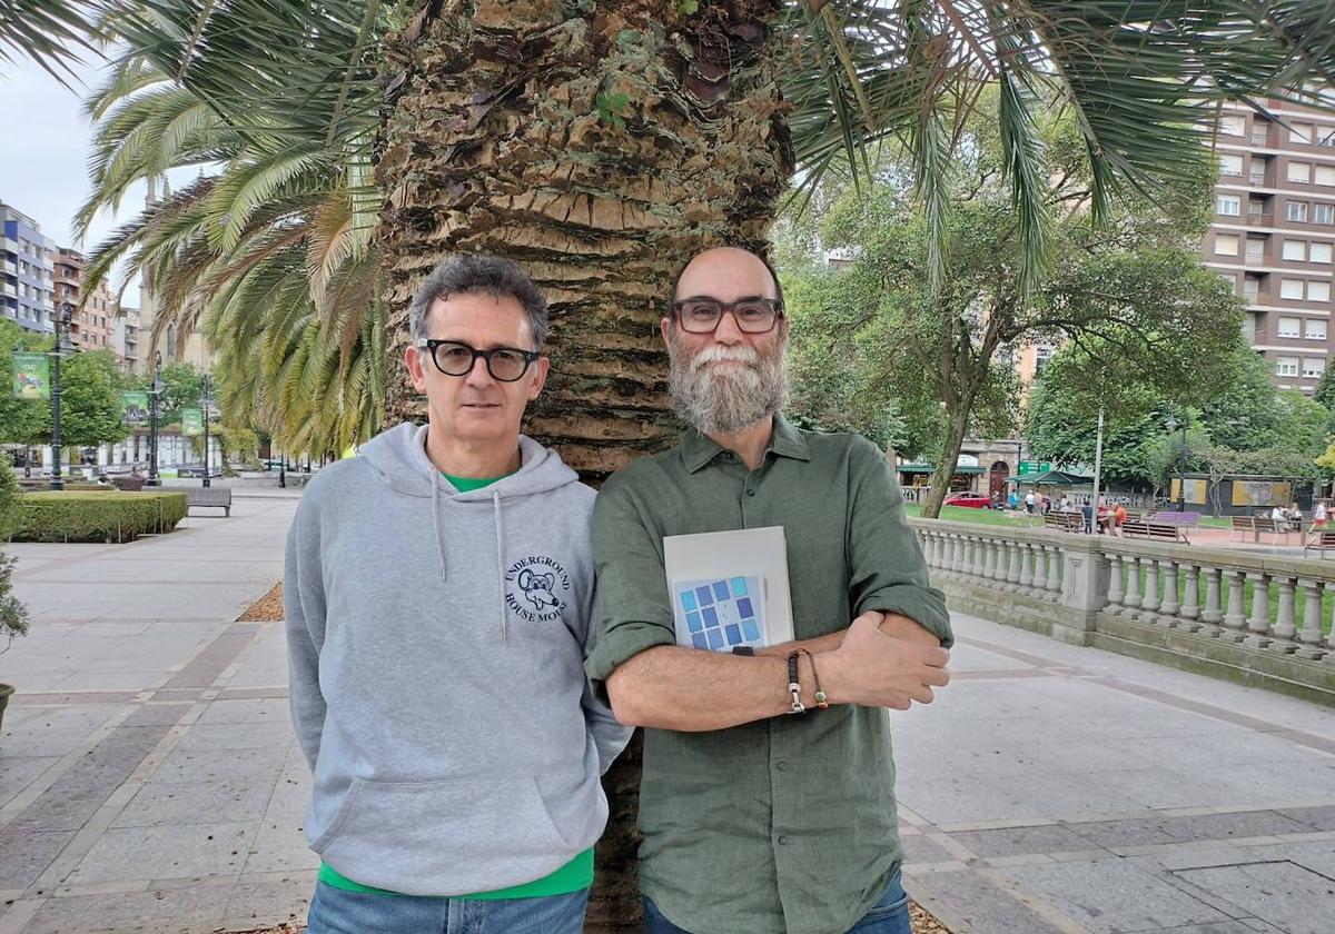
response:
[(589, 890), (543, 898), (375, 895), (315, 883), (307, 934), (579, 934)]

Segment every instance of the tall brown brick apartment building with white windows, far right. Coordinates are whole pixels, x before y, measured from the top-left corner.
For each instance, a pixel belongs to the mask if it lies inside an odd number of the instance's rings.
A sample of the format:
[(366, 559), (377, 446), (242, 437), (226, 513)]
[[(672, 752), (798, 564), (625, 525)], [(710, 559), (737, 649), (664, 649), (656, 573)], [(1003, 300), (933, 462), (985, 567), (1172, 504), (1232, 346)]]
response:
[(1226, 107), (1204, 263), (1247, 304), (1251, 346), (1280, 388), (1311, 392), (1331, 358), (1335, 115)]

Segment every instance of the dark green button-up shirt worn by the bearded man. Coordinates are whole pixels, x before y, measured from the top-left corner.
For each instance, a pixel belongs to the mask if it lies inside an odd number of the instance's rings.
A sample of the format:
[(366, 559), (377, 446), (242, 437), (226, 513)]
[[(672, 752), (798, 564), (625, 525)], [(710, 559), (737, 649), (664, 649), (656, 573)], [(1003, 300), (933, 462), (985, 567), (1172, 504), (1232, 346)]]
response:
[[(587, 672), (674, 644), (665, 535), (784, 526), (798, 639), (900, 612), (952, 643), (894, 475), (856, 435), (781, 416), (762, 464), (690, 431), (611, 476), (594, 507), (597, 631)], [(786, 684), (776, 683), (782, 694)], [(710, 733), (645, 730), (641, 889), (694, 934), (842, 934), (902, 849), (882, 709), (837, 706)]]

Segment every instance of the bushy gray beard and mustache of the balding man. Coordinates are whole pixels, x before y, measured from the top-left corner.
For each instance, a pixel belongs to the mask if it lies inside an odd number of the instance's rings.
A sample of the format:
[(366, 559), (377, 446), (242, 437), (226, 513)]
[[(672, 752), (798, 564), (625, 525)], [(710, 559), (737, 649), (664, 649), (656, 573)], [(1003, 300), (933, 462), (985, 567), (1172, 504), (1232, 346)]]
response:
[[(668, 348), (673, 408), (701, 434), (736, 435), (777, 414), (788, 402), (788, 355), (782, 344), (776, 346), (770, 355), (757, 354), (749, 347), (713, 347), (692, 356), (673, 334)], [(717, 356), (745, 358), (754, 366), (702, 366)]]

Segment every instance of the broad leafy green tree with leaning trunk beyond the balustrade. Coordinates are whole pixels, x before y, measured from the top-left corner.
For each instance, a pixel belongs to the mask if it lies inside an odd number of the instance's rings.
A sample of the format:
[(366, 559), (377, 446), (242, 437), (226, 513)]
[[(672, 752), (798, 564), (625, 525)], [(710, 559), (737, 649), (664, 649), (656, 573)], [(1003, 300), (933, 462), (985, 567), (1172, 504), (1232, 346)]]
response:
[(1085, 347), (1089, 366), (1079, 384), (1108, 387), (1120, 374), (1153, 372), (1160, 391), (1191, 399), (1210, 383), (1203, 368), (1218, 368), (1197, 348), (1236, 342), (1242, 307), (1193, 248), (1208, 171), (1160, 205), (1129, 203), (1091, 229), (1083, 209), (1064, 207), (1083, 204), (1088, 189), (1077, 139), (1060, 121), (1045, 139), (1064, 179), (1049, 209), (1063, 219), (1052, 231), (1052, 271), (1036, 292), (1025, 291), (1021, 219), (997, 185), (997, 121), (980, 116), (960, 137), (947, 192), (944, 284), (930, 284), (933, 240), (909, 185), (913, 167), (894, 160), (873, 187), (834, 200), (821, 243), (856, 259), (826, 274), (813, 302), (793, 303), (794, 319), (826, 320), (830, 339), (854, 335), (841, 339), (880, 348), (878, 379), (897, 400), (940, 404), (941, 456), (922, 515), (940, 510), (967, 434), (1009, 434), (1019, 403), (1009, 359), (1023, 344)]

